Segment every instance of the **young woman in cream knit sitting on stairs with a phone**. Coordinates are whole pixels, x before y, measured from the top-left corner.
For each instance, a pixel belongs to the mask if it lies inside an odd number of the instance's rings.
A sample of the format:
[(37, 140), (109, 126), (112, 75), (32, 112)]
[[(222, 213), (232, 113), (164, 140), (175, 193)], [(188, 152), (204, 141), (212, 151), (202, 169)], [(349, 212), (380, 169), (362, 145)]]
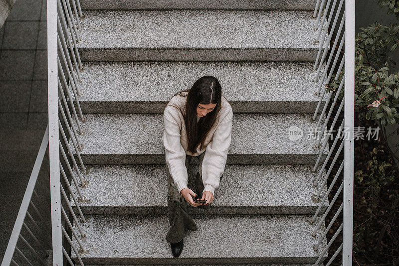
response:
[[(168, 218), (171, 228), (166, 240), (172, 254), (179, 257), (186, 229), (197, 230), (187, 214), (187, 203), (207, 209), (219, 186), (231, 142), (233, 112), (221, 95), (218, 80), (212, 76), (198, 79), (189, 90), (175, 94), (164, 111), (166, 173), (168, 177)], [(189, 163), (200, 160), (195, 192), (187, 187)], [(194, 198), (206, 203), (195, 203)]]

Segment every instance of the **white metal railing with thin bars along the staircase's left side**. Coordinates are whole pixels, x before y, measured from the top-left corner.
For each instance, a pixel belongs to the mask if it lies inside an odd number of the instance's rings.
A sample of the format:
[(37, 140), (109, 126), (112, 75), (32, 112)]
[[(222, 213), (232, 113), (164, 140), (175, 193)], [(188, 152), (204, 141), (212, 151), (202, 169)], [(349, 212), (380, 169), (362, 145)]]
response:
[[(72, 8), (74, 12), (72, 12)], [(63, 265), (63, 256), (69, 265), (74, 266), (74, 262), (72, 262), (66, 250), (68, 244), (75, 253), (80, 265), (84, 265), (78, 251), (78, 249), (83, 251), (84, 247), (79, 241), (79, 237), (63, 208), (63, 204), (61, 204), (63, 202), (68, 207), (69, 215), (72, 217), (80, 235), (84, 237), (79, 220), (69, 203), (66, 189), (62, 185), (64, 183), (68, 188), (80, 218), (83, 222), (86, 222), (79, 207), (79, 200), (84, 199), (79, 186), (87, 184), (81, 174), (81, 171), (83, 173), (86, 172), (86, 168), (79, 152), (79, 148), (82, 147), (79, 141), (79, 134), (83, 134), (80, 125), (80, 120), (83, 120), (83, 114), (79, 105), (78, 95), (80, 93), (77, 86), (77, 82), (81, 81), (80, 69), (83, 68), (77, 47), (77, 42), (80, 41), (78, 30), (81, 28), (79, 21), (81, 16), (82, 11), (79, 0), (76, 0), (76, 2), (75, 0), (47, 0), (48, 133), (54, 266)], [(70, 93), (69, 85), (73, 96)], [(59, 117), (59, 114), (61, 114), (61, 117)], [(74, 153), (69, 145), (69, 137), (77, 158), (73, 155)], [(64, 146), (67, 149), (66, 151)], [(65, 167), (67, 170), (64, 170)], [(61, 182), (61, 176), (64, 182)], [(76, 187), (78, 198), (72, 192), (69, 178)], [(79, 179), (80, 185), (77, 179)], [(67, 230), (75, 237), (79, 247), (73, 245)]]

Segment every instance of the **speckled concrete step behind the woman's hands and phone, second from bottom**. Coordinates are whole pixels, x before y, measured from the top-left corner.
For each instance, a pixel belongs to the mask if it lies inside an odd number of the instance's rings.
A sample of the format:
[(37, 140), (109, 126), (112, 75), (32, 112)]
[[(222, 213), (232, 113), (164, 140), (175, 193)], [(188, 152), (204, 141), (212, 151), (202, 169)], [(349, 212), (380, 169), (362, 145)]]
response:
[[(193, 190), (197, 172), (198, 167), (190, 167), (188, 186)], [(188, 205), (188, 212), (314, 214), (319, 203), (312, 199), (322, 182), (314, 187), (316, 176), (310, 165), (226, 165), (210, 208)], [(84, 177), (89, 180), (81, 188), (86, 197), (79, 203), (84, 214), (168, 214), (165, 165), (90, 165)], [(325, 186), (322, 197), (326, 191)], [(75, 205), (72, 199), (71, 204)]]

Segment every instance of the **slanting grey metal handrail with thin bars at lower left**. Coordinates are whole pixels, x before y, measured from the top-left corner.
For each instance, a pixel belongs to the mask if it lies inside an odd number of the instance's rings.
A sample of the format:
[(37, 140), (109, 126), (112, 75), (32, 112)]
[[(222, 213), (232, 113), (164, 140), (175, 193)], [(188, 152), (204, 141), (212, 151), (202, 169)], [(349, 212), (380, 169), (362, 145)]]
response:
[[(21, 239), (22, 241), (25, 240), (22, 237), (22, 235), (21, 235), (22, 227), (24, 227), (28, 231), (29, 235), (34, 239), (36, 244), (41, 247), (41, 249), (46, 254), (46, 256), (49, 256), (49, 254), (44, 249), (44, 247), (42, 246), (40, 241), (37, 239), (37, 237), (32, 233), (32, 231), (29, 229), (29, 227), (25, 223), (25, 218), (26, 218), (26, 215), (28, 213), (28, 208), (29, 208), (29, 206), (31, 206), (33, 204), (32, 203), (32, 195), (34, 193), (36, 193), (34, 188), (35, 188), (35, 185), (36, 185), (37, 178), (39, 176), (41, 165), (43, 163), (43, 159), (44, 159), (44, 155), (46, 153), (47, 145), (48, 145), (48, 124), (47, 124), (46, 131), (44, 133), (43, 139), (41, 140), (39, 152), (37, 153), (36, 160), (34, 162), (33, 169), (32, 169), (32, 172), (30, 174), (29, 181), (28, 181), (28, 184), (26, 186), (25, 193), (23, 195), (22, 203), (21, 203), (21, 206), (19, 207), (19, 211), (18, 211), (18, 215), (16, 216), (14, 227), (12, 228), (11, 237), (10, 237), (10, 239), (8, 241), (7, 249), (5, 250), (5, 254), (4, 254), (3, 260), (1, 262), (1, 266), (9, 266), (11, 264), (11, 262), (13, 261), (12, 258), (14, 256), (15, 250), (17, 250), (18, 253), (22, 254), (22, 252), (16, 246), (16, 244), (17, 244), (19, 239)], [(29, 215), (29, 217), (31, 217), (31, 216)], [(39, 233), (42, 233), (41, 230), (39, 230)], [(26, 240), (23, 241), (23, 242), (25, 244), (27, 243)], [(49, 246), (49, 245), (47, 244), (47, 246)]]

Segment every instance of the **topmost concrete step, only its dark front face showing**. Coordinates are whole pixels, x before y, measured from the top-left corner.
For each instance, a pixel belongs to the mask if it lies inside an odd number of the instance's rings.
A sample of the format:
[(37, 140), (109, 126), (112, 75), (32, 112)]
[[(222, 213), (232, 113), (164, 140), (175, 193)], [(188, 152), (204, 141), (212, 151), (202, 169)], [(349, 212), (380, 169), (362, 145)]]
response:
[(80, 0), (82, 9), (261, 9), (261, 10), (313, 10), (316, 0)]

